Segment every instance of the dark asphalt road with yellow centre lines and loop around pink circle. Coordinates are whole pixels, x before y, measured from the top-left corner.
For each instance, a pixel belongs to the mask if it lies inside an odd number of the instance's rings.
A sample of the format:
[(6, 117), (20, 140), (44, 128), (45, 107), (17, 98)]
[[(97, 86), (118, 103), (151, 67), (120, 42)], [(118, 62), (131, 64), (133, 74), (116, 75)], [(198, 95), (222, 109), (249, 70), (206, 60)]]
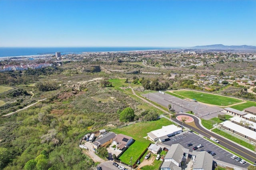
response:
[[(176, 114), (176, 116), (178, 115), (184, 115), (182, 113), (179, 113), (179, 114)], [(241, 146), (237, 145), (237, 144), (234, 144), (233, 142), (230, 142), (228, 140), (226, 140), (225, 138), (223, 137), (220, 137), (212, 132), (209, 132), (208, 130), (202, 128), (199, 124), (199, 121), (198, 121), (198, 118), (193, 116), (193, 115), (189, 115), (190, 117), (193, 117), (194, 118), (194, 123), (196, 125), (196, 127), (198, 128), (195, 128), (195, 127), (192, 127), (190, 125), (187, 125), (186, 123), (183, 124), (184, 127), (188, 127), (192, 130), (194, 130), (195, 132), (198, 132), (199, 134), (202, 134), (203, 136), (207, 137), (207, 138), (210, 138), (210, 136), (213, 136), (214, 138), (218, 139), (220, 141), (220, 145), (224, 146), (225, 148), (239, 154), (240, 156), (252, 161), (252, 162), (255, 162), (256, 161), (256, 154), (253, 153), (253, 152), (250, 152), (244, 148), (242, 148)], [(182, 122), (178, 121), (177, 119), (174, 119), (174, 121), (182, 124)]]

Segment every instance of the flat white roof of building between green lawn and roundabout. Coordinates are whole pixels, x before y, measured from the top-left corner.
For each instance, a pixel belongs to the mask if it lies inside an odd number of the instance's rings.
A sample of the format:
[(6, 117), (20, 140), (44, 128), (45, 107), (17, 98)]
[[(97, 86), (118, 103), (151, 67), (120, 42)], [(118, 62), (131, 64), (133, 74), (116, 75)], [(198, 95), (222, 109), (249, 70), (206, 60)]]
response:
[(162, 136), (168, 136), (169, 134), (172, 134), (180, 130), (182, 130), (182, 128), (176, 127), (175, 125), (168, 125), (168, 126), (163, 126), (160, 129), (153, 130), (151, 131), (151, 133), (154, 134), (156, 137), (160, 138)]

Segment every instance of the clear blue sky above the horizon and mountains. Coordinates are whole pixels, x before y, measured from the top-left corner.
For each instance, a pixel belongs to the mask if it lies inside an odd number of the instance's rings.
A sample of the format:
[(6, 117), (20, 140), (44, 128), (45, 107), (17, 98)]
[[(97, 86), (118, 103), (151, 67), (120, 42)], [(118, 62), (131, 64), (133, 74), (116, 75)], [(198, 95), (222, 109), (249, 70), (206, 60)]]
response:
[(0, 47), (256, 45), (256, 0), (0, 0)]

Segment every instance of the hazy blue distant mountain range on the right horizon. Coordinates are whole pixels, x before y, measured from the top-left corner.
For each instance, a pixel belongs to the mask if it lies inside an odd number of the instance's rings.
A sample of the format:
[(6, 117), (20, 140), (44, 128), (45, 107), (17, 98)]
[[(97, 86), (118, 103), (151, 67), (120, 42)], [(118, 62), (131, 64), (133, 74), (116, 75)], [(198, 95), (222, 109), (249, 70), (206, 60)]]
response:
[(223, 44), (214, 44), (214, 45), (201, 45), (191, 47), (193, 49), (256, 49), (256, 46), (252, 45), (223, 45)]

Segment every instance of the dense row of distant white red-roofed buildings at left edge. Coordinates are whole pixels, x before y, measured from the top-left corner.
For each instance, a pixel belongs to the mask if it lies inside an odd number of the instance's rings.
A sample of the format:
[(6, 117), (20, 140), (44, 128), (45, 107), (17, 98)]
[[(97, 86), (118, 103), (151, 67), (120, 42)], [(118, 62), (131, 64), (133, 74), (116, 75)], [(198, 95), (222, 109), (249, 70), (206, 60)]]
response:
[(20, 64), (20, 65), (2, 65), (0, 66), (0, 71), (22, 71), (28, 69), (40, 69), (42, 67), (50, 67), (52, 63), (33, 63), (33, 64)]

